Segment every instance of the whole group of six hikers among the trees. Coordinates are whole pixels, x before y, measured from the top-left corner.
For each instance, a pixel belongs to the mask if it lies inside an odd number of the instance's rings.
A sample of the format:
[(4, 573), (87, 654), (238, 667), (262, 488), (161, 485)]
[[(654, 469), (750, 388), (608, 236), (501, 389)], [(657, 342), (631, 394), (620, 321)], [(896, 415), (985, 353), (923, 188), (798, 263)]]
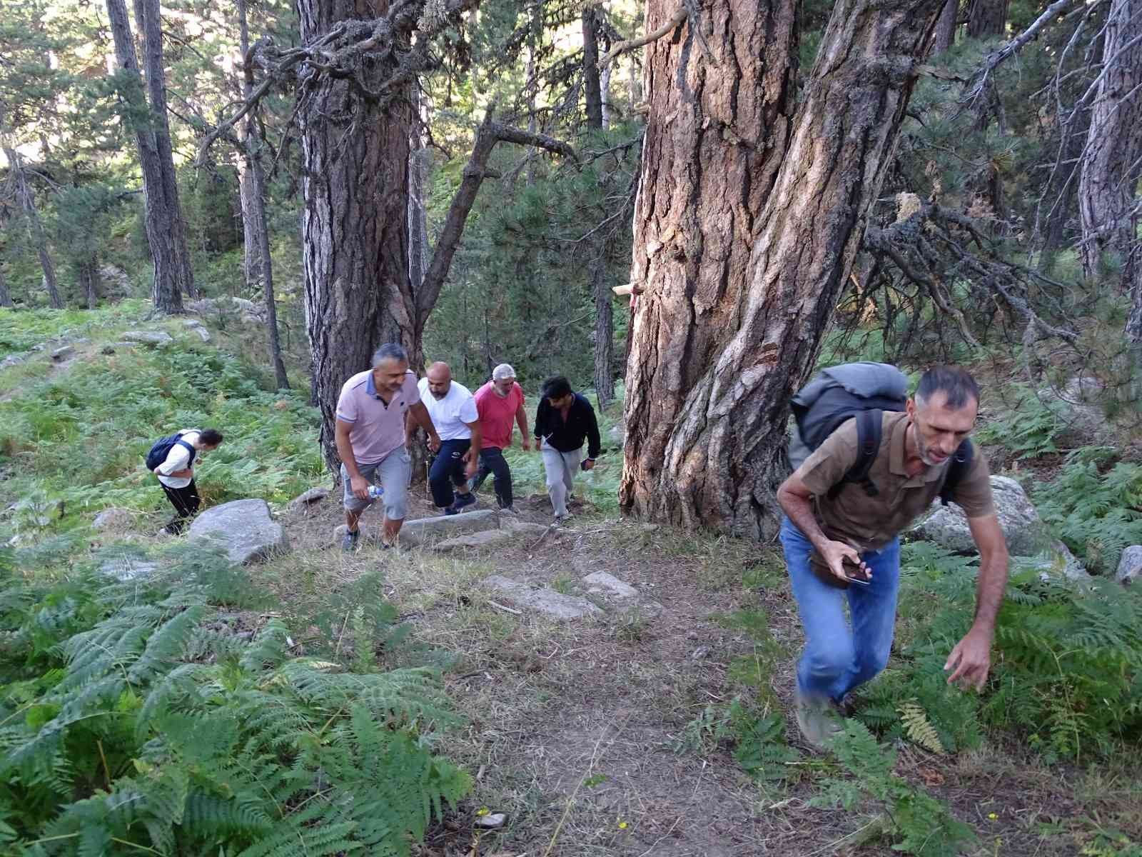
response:
[[(827, 747), (841, 730), (850, 692), (887, 664), (900, 532), (938, 497), (963, 510), (980, 552), (975, 617), (948, 656), (948, 682), (982, 688), (990, 670), (1007, 547), (987, 462), (968, 440), (980, 391), (967, 371), (948, 366), (925, 373), (910, 398), (907, 391), (908, 379), (895, 367), (859, 362), (819, 373), (790, 402), (797, 424), (789, 447), (793, 473), (777, 500), (805, 631), (795, 688), (797, 724), (817, 748)], [(498, 507), (515, 512), (504, 450), (518, 426), (523, 449), (530, 451), (533, 436), (542, 457), (554, 519), (565, 520), (576, 472), (592, 470), (601, 452), (595, 410), (562, 376), (544, 383), (530, 434), (524, 406), (507, 363), (473, 394), (452, 379), (447, 363), (432, 363), (418, 382), (403, 347), (380, 346), (372, 367), (346, 381), (337, 402), (346, 523), (341, 547), (357, 548), (361, 515), (378, 499), (380, 544), (395, 545), (412, 475), (408, 439), (417, 426), (433, 454), (428, 484), (442, 514), (475, 504), (474, 492), (489, 474)], [(167, 531), (180, 531), (198, 511), (194, 462), (222, 440), (217, 430), (188, 428), (152, 448), (147, 468), (177, 512)]]

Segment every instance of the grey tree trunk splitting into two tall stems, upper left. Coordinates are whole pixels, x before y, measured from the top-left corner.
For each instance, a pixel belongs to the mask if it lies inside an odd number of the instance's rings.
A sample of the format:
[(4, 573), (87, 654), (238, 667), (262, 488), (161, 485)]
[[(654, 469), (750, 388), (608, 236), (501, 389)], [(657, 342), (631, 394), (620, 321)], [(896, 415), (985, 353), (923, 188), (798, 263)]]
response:
[[(171, 158), (170, 136), (169, 134), (162, 135), (159, 130), (167, 128), (167, 104), (162, 79), (162, 40), (158, 18), (159, 6), (154, 0), (146, 0), (146, 2), (153, 6), (153, 9), (145, 8), (143, 10), (144, 17), (139, 19), (138, 25), (144, 32), (144, 45), (147, 51), (147, 89), (152, 97), (158, 91), (161, 97), (161, 111), (160, 104), (152, 102), (147, 105), (124, 0), (107, 0), (107, 19), (115, 40), (115, 61), (128, 75), (128, 89), (121, 96), (130, 102), (136, 115), (142, 112), (150, 113), (150, 121), (145, 125), (136, 123), (132, 130), (143, 171), (146, 239), (151, 250), (151, 259), (154, 263), (152, 299), (158, 312), (180, 313), (183, 312), (183, 293), (195, 294), (194, 280), (191, 274), (190, 255), (186, 250), (186, 230), (183, 225), (182, 210), (178, 207), (177, 187), (171, 195), (170, 182), (174, 181), (175, 165), (172, 160), (169, 160), (167, 165), (163, 163), (163, 152), (167, 153), (168, 159)], [(142, 0), (136, 6), (136, 15), (138, 15), (139, 6), (143, 6)], [(153, 15), (151, 15), (152, 11)], [(151, 17), (152, 21), (147, 22), (147, 17)], [(150, 39), (146, 39), (147, 33), (151, 34)], [(160, 136), (166, 137), (164, 144), (160, 142)]]

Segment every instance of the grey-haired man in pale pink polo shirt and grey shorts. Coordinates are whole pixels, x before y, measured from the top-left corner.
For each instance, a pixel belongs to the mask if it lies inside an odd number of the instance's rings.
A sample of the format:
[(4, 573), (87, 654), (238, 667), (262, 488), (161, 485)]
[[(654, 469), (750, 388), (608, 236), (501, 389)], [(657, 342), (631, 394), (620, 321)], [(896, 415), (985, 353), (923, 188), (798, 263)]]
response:
[(404, 446), (405, 413), (411, 413), (428, 433), (428, 446), (439, 449), (440, 435), (420, 403), (408, 353), (400, 345), (381, 345), (372, 355), (372, 369), (346, 381), (337, 400), (337, 454), (341, 457), (345, 486), (344, 551), (357, 547), (361, 536), (357, 522), (373, 503), (369, 484), (378, 480), (385, 502), (381, 545), (391, 547), (396, 542), (409, 508), (412, 476), (412, 459)]

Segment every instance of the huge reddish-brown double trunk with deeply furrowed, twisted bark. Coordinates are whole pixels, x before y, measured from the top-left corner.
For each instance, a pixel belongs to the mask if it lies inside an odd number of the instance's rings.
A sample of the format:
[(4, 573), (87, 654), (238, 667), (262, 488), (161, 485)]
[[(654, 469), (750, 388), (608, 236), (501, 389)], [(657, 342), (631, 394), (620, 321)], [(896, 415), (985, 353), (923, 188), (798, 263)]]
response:
[[(711, 48), (733, 45), (739, 65), (717, 79), (703, 80), (689, 25), (648, 50), (632, 275), (645, 291), (620, 502), (770, 537), (788, 402), (818, 355), (943, 3), (838, 0), (791, 134), (793, 3), (755, 11), (769, 11), (762, 21), (726, 6), (714, 5), (706, 32), (725, 33)], [(651, 0), (648, 29), (673, 10)]]

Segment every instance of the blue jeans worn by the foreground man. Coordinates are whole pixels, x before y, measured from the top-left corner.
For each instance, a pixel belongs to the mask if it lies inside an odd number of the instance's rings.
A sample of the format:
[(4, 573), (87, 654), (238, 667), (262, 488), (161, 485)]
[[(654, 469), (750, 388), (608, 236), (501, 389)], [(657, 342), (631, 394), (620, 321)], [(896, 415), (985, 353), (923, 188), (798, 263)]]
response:
[[(797, 684), (805, 696), (841, 702), (858, 684), (888, 663), (900, 587), (900, 539), (861, 554), (872, 572), (868, 586), (847, 590), (821, 583), (809, 567), (812, 543), (788, 518), (781, 521), (781, 546), (797, 610), (805, 627), (805, 651), (797, 664)], [(852, 627), (845, 622), (849, 600)]]

